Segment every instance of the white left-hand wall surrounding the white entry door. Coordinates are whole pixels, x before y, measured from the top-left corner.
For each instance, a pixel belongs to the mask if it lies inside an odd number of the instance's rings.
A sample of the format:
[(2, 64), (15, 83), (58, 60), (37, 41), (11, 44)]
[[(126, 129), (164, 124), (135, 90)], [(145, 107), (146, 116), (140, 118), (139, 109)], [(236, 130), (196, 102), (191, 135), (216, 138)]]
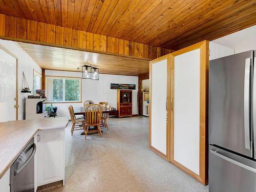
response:
[(23, 72), (32, 91), (33, 69), (41, 73), (41, 68), (16, 42), (0, 39), (0, 44), (18, 57), (18, 120), (25, 119), (25, 99), (28, 97), (28, 93), (21, 93)]

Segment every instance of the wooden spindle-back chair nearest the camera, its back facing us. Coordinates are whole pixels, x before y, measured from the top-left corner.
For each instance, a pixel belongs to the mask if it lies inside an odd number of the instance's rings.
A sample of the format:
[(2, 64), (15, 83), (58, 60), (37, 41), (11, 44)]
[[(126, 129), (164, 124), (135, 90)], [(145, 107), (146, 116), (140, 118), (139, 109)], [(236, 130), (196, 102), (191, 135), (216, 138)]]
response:
[[(99, 104), (91, 104), (86, 108), (85, 111), (86, 116), (86, 131), (85, 131), (85, 138), (87, 137), (88, 133), (95, 133), (98, 132), (100, 137), (102, 137), (102, 133), (100, 130), (100, 122), (102, 118), (102, 108)], [(90, 126), (97, 127), (97, 130), (89, 130)]]

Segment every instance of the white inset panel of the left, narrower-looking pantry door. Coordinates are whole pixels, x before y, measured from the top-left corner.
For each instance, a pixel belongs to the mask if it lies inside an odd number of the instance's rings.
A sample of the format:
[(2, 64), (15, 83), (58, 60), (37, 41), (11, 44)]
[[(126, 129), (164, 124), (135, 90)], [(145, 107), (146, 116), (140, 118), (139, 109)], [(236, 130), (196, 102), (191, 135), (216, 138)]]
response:
[(152, 64), (151, 146), (164, 155), (166, 150), (167, 58)]

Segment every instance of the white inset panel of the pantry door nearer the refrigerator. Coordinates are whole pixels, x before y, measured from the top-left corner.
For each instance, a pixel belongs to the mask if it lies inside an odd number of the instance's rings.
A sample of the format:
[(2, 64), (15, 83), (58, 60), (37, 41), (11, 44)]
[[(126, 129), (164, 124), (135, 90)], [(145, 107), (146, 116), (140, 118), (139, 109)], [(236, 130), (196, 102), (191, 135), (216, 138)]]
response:
[(174, 160), (199, 175), (200, 49), (174, 60)]

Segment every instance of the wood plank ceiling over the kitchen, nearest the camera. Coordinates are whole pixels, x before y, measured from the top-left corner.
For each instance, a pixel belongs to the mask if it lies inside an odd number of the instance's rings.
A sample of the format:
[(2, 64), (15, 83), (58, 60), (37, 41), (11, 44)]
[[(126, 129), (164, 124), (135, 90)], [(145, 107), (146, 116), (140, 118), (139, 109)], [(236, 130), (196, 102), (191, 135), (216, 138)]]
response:
[(256, 24), (256, 0), (0, 0), (0, 13), (178, 50)]

